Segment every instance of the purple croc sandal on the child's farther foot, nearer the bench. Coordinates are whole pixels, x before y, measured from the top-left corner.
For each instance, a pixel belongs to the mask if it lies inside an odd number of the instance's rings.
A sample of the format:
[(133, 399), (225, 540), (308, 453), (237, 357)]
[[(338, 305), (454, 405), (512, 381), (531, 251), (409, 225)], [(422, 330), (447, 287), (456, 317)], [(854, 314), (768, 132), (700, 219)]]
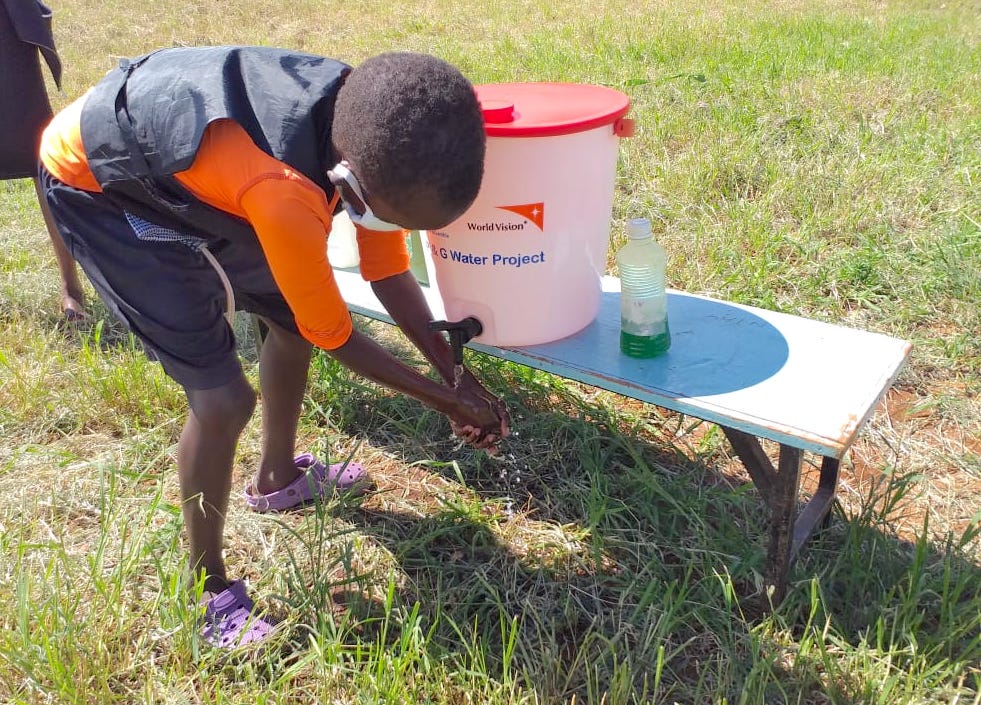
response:
[(282, 512), (329, 496), (335, 489), (360, 495), (369, 486), (368, 473), (359, 463), (334, 463), (327, 468), (310, 453), (298, 455), (293, 463), (302, 474), (283, 489), (257, 494), (251, 485), (245, 488), (245, 503), (249, 509)]

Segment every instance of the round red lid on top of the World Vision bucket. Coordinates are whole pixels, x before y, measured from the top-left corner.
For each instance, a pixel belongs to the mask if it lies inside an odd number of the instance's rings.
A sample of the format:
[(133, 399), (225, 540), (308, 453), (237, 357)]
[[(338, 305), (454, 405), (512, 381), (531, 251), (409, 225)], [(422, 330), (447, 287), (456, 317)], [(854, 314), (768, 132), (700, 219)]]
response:
[(630, 98), (580, 83), (489, 83), (476, 86), (490, 137), (547, 137), (611, 125)]

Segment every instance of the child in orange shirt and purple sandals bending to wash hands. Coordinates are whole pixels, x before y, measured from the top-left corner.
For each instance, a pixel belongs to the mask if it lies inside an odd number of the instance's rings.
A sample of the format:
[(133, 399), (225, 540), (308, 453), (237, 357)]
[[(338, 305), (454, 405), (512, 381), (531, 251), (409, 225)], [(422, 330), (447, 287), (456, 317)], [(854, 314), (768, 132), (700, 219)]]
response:
[[(405, 243), (407, 229), (443, 227), (472, 203), (484, 150), (471, 84), (413, 53), (351, 68), (268, 47), (162, 49), (122, 61), (45, 131), (39, 179), (60, 236), (187, 395), (177, 470), (210, 643), (262, 640), (274, 626), (222, 558), (235, 448), (257, 400), (226, 301), (268, 327), (262, 452), (245, 492), (255, 511), (367, 480), (356, 463), (327, 467), (295, 452), (313, 346), (442, 412), (478, 448), (493, 452), (507, 435), (496, 397), (469, 373), (454, 383)], [(362, 276), (444, 384), (353, 328), (326, 253), (342, 208)]]

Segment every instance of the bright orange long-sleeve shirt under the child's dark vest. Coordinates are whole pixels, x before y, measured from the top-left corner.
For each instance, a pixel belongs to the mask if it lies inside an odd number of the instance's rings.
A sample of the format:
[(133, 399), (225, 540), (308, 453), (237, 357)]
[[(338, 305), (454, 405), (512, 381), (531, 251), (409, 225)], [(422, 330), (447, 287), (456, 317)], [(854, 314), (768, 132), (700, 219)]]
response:
[[(89, 169), (81, 137), (85, 97), (58, 113), (41, 139), (41, 161), (58, 180), (102, 189)], [(300, 334), (332, 350), (351, 336), (351, 316), (327, 261), (333, 205), (307, 177), (259, 149), (232, 120), (208, 126), (186, 171), (174, 177), (210, 206), (252, 225), (276, 285)], [(409, 268), (405, 232), (358, 228), (361, 275), (378, 281)]]

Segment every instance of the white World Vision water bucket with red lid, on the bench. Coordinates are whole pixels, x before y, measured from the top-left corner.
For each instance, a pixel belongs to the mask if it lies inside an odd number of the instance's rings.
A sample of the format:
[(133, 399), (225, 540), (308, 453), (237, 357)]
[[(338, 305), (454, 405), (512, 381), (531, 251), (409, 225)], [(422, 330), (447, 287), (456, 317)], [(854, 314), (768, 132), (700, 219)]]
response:
[(489, 345), (533, 345), (596, 317), (619, 137), (629, 98), (603, 86), (477, 86), (487, 159), (477, 200), (427, 233), (449, 320), (475, 316)]

